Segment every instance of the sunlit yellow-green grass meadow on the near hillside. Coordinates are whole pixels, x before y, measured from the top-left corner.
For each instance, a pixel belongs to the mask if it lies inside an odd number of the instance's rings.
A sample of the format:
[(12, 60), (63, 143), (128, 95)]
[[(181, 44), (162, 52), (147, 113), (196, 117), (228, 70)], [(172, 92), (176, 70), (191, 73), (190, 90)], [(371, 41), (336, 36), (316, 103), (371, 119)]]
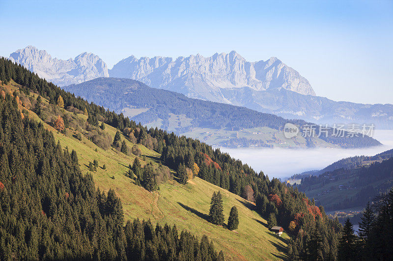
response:
[[(9, 88), (12, 90), (16, 87), (11, 84)], [(48, 103), (47, 100), (43, 102)], [(29, 111), (29, 116), (40, 120), (32, 111)], [(87, 118), (83, 114), (78, 114), (78, 117)], [(162, 225), (176, 224), (179, 230), (187, 229), (198, 237), (205, 234), (214, 241), (218, 250), (224, 251), (226, 260), (287, 259), (285, 247), (289, 237), (285, 233), (281, 237), (270, 233), (266, 220), (254, 211), (253, 203), (197, 177), (187, 185), (170, 180), (160, 184), (159, 190), (149, 192), (136, 186), (131, 178), (124, 175), (136, 156), (125, 155), (113, 148), (104, 150), (84, 136), (82, 141), (79, 141), (75, 138), (76, 130), (69, 130), (65, 136), (46, 123), (44, 126), (53, 132), (55, 140), (60, 141), (63, 148), (77, 151), (82, 173), (91, 173), (97, 187), (105, 191), (115, 191), (122, 201), (125, 220), (151, 219), (153, 223)], [(105, 131), (112, 138), (116, 132), (109, 125), (106, 125)], [(122, 140), (126, 140), (124, 136)], [(129, 147), (133, 145), (128, 140), (126, 143)], [(140, 158), (142, 166), (148, 161), (155, 164), (159, 162), (160, 154), (140, 144), (138, 146), (142, 155), (146, 155), (146, 162), (142, 160), (143, 157)], [(90, 172), (89, 162), (94, 159), (98, 160), (99, 167), (97, 171)], [(106, 169), (103, 169), (104, 164)], [(211, 196), (213, 191), (218, 190), (223, 194), (225, 223), (230, 208), (238, 208), (240, 224), (235, 231), (229, 231), (225, 226), (213, 225), (207, 220)]]

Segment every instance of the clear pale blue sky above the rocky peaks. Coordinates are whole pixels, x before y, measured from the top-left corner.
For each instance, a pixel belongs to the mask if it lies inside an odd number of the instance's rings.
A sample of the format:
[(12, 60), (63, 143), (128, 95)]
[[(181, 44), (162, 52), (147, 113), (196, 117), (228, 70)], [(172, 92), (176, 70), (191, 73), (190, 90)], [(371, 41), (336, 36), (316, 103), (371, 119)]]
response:
[(334, 100), (393, 103), (393, 1), (0, 1), (0, 55), (276, 56)]

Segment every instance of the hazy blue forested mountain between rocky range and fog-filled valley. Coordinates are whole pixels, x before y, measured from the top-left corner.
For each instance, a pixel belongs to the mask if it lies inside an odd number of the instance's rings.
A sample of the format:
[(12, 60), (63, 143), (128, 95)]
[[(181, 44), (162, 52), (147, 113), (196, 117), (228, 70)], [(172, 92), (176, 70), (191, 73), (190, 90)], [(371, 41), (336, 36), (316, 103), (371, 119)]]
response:
[[(250, 129), (251, 135), (245, 139), (249, 140), (257, 140), (258, 137), (263, 136), (260, 133), (263, 133), (264, 130), (267, 131), (265, 138), (259, 138), (264, 140), (259, 143), (255, 142), (262, 146), (286, 144), (292, 147), (365, 147), (380, 144), (376, 140), (366, 136), (362, 137), (362, 135), (359, 137), (335, 137), (332, 128), (329, 129), (327, 137), (326, 135), (319, 135), (319, 137), (304, 135), (305, 137), (302, 137), (299, 134), (287, 139), (282, 133), (285, 123), (291, 122), (299, 127), (312, 123), (304, 120), (287, 120), (245, 107), (192, 99), (178, 93), (150, 88), (131, 79), (97, 78), (67, 86), (65, 90), (110, 110), (123, 111), (125, 116), (130, 116), (131, 119), (142, 124), (155, 122), (159, 127), (176, 133), (187, 133), (194, 137), (193, 134), (200, 129), (204, 130), (205, 136), (211, 135), (210, 133), (214, 130), (225, 130), (227, 136), (224, 140), (227, 142), (219, 140), (214, 145), (230, 144), (231, 140), (234, 144), (239, 144), (242, 138), (239, 133), (242, 135), (247, 129)], [(131, 107), (134, 109), (129, 109)], [(135, 115), (135, 109), (145, 110), (139, 110)], [(127, 115), (127, 113), (130, 114)], [(175, 123), (177, 124), (173, 126), (173, 121), (176, 119)], [(316, 129), (316, 131), (319, 130)], [(301, 128), (301, 133), (305, 131)], [(347, 136), (347, 133), (344, 136)], [(200, 137), (197, 138), (200, 139)]]

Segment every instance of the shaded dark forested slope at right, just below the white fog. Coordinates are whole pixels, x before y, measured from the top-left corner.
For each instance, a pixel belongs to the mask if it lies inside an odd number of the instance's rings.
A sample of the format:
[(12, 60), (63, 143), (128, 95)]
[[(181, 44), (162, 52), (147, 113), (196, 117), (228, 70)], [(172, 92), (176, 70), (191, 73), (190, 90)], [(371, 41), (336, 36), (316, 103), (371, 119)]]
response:
[(393, 188), (393, 150), (342, 159), (317, 174), (303, 177), (298, 188), (326, 210), (364, 207)]

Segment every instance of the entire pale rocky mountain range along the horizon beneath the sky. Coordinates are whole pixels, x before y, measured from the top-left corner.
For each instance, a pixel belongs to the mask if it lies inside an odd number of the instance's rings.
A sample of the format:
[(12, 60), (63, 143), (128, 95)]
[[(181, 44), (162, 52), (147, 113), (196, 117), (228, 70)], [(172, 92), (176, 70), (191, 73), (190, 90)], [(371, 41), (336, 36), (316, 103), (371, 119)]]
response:
[(108, 70), (91, 53), (58, 60), (29, 46), (12, 53), (10, 59), (59, 86), (97, 77), (131, 78), (188, 97), (244, 106), (289, 119), (321, 124), (373, 123), (377, 128), (393, 128), (392, 104), (337, 102), (316, 96), (306, 78), (275, 57), (248, 62), (235, 51), (176, 59), (130, 56)]

